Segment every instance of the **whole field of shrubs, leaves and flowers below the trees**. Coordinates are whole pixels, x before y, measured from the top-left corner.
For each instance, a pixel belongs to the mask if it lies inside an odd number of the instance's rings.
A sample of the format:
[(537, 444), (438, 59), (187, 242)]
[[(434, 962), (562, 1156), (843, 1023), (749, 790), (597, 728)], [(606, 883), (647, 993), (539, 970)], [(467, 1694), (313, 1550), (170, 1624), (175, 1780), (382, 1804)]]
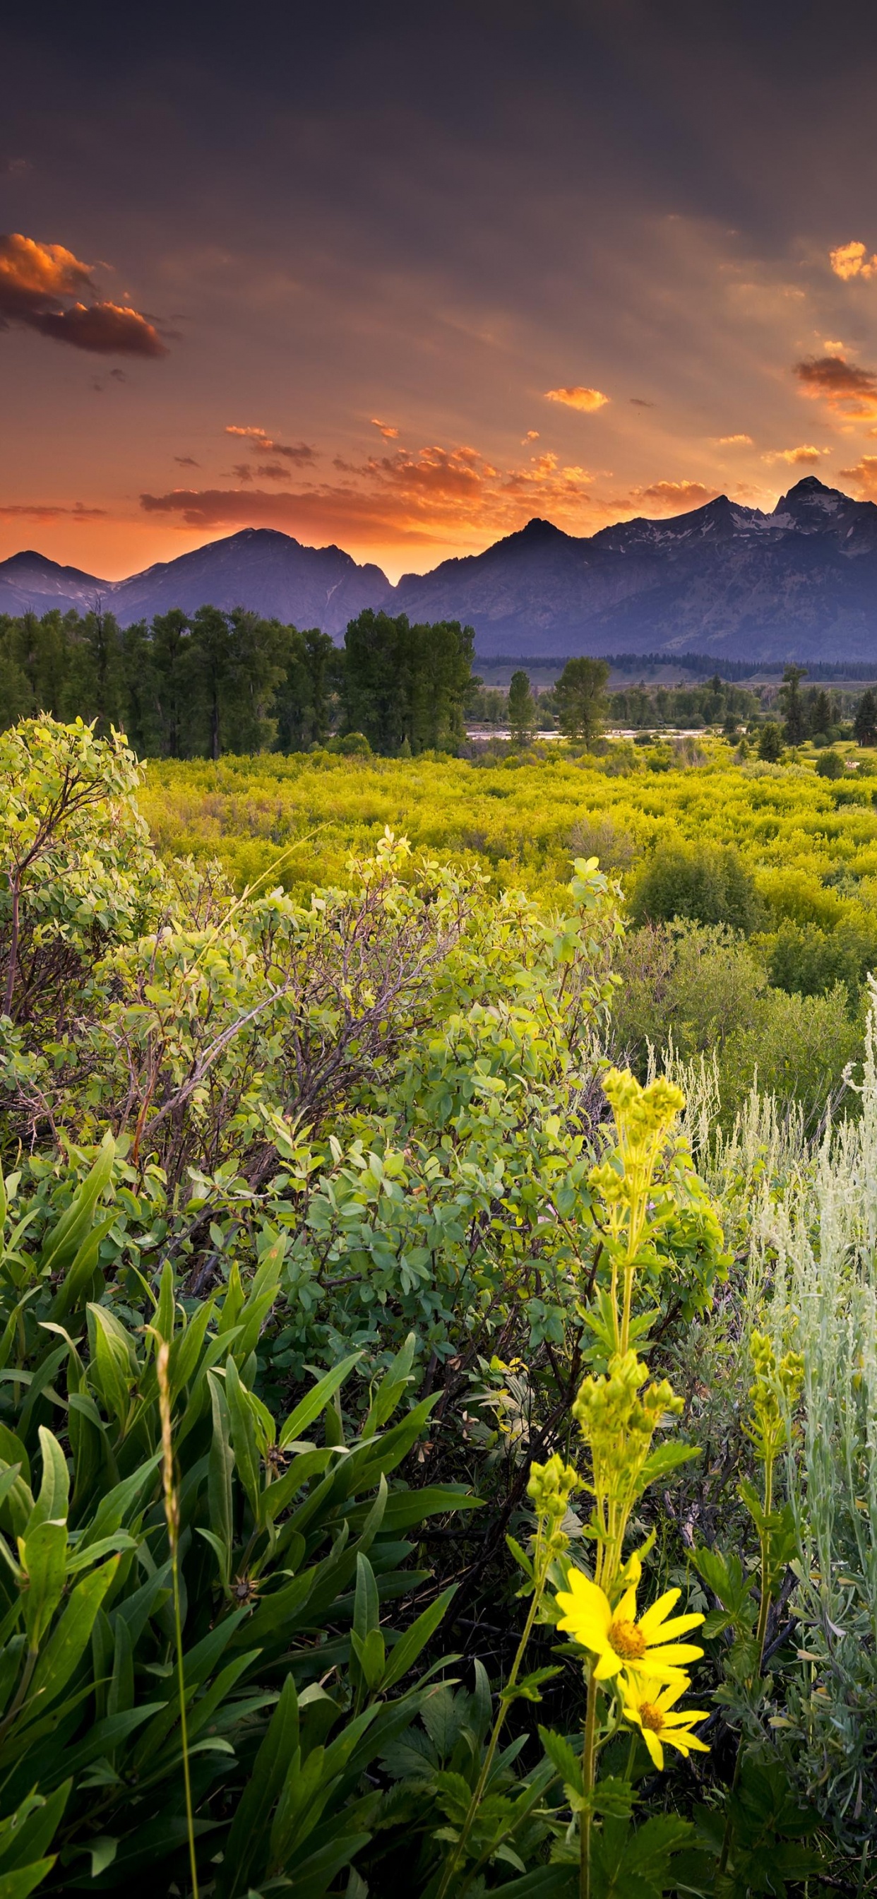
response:
[(0, 1899), (877, 1891), (816, 758), (0, 735)]

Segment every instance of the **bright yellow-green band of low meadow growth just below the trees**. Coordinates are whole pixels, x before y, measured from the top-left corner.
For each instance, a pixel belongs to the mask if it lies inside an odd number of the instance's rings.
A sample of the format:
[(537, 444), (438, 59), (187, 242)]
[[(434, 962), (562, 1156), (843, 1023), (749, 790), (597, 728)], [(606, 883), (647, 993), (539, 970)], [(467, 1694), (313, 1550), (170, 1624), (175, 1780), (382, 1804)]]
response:
[(858, 769), (833, 784), (816, 777), (811, 748), (792, 765), (738, 765), (714, 739), (693, 746), (697, 765), (685, 741), (676, 754), (670, 744), (613, 744), (604, 758), (505, 750), (473, 761), (429, 752), (159, 760), (140, 809), (161, 853), (216, 856), (237, 889), (273, 864), (290, 891), (344, 883), (351, 851), (389, 828), (416, 849), (482, 864), (499, 889), (514, 883), (547, 900), (566, 887), (581, 839), (602, 843), (604, 868), (621, 872), (659, 841), (708, 839), (740, 851), (776, 915), (826, 923), (856, 902), (877, 908), (873, 752), (843, 748)]

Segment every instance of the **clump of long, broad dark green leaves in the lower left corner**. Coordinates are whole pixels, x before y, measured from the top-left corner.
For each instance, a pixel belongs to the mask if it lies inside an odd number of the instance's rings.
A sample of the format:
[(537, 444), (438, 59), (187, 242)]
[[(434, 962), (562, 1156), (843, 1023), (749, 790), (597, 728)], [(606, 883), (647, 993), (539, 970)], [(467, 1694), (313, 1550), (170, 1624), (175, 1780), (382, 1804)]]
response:
[[(294, 1867), (319, 1895), (368, 1846), (380, 1795), (357, 1798), (357, 1783), (429, 1700), (401, 1684), (454, 1593), (401, 1635), (387, 1626), (380, 1605), (425, 1580), (402, 1576), (401, 1531), (473, 1500), (393, 1477), (431, 1409), (391, 1422), (414, 1339), (359, 1432), (336, 1409), (355, 1358), (273, 1420), (252, 1381), (283, 1242), (247, 1288), (232, 1270), (205, 1301), (180, 1301), (165, 1265), (154, 1295), (142, 1282), (137, 1303), (91, 1303), (101, 1200), (118, 1213), (112, 1164), (104, 1143), (36, 1248), (32, 1210), (8, 1183), (0, 1770), (4, 1812), (32, 1810), (11, 1865), (44, 1861), (36, 1878), (63, 1891), (95, 1878), (154, 1891), (184, 1867), (156, 1384), (167, 1341), (199, 1874), (220, 1855), (216, 1893), (233, 1899)], [(323, 1443), (306, 1436), (321, 1419)]]

